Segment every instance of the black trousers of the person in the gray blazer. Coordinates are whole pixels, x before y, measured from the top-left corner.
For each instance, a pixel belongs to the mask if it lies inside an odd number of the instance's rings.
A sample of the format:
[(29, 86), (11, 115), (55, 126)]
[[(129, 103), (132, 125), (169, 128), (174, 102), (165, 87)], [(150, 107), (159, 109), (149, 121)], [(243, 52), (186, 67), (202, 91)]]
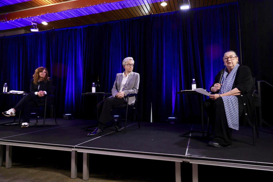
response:
[(126, 104), (124, 98), (109, 97), (97, 104), (98, 116), (99, 116), (99, 126), (102, 129), (103, 125), (109, 122), (113, 117), (111, 115), (111, 109), (115, 106)]

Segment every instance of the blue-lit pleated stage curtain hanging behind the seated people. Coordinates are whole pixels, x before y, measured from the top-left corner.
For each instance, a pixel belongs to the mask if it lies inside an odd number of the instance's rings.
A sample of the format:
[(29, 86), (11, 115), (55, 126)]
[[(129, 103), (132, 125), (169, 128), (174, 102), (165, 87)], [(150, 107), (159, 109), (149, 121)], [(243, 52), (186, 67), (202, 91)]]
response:
[(2, 37), (1, 84), (28, 92), (34, 70), (45, 66), (56, 86), (59, 116), (82, 115), (81, 93), (91, 92), (98, 80), (101, 92), (111, 92), (115, 75), (123, 72), (121, 61), (130, 56), (140, 73), (142, 121), (150, 121), (151, 103), (155, 122), (187, 119), (199, 116), (199, 101), (177, 91), (191, 89), (193, 78), (198, 88), (209, 89), (224, 68), (223, 53), (239, 50), (237, 25), (237, 3), (228, 3)]

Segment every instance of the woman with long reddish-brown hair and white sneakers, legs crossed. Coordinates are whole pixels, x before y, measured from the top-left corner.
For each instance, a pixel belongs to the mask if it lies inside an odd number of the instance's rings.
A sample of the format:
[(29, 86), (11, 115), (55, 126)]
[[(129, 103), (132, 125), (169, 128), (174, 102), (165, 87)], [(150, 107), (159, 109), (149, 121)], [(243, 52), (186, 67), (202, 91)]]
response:
[(45, 95), (52, 94), (52, 80), (48, 77), (47, 69), (39, 67), (35, 70), (33, 79), (30, 81), (30, 93), (24, 96), (18, 104), (2, 114), (4, 116), (15, 116), (18, 111), (22, 112), (22, 128), (28, 127), (31, 107), (45, 102)]

